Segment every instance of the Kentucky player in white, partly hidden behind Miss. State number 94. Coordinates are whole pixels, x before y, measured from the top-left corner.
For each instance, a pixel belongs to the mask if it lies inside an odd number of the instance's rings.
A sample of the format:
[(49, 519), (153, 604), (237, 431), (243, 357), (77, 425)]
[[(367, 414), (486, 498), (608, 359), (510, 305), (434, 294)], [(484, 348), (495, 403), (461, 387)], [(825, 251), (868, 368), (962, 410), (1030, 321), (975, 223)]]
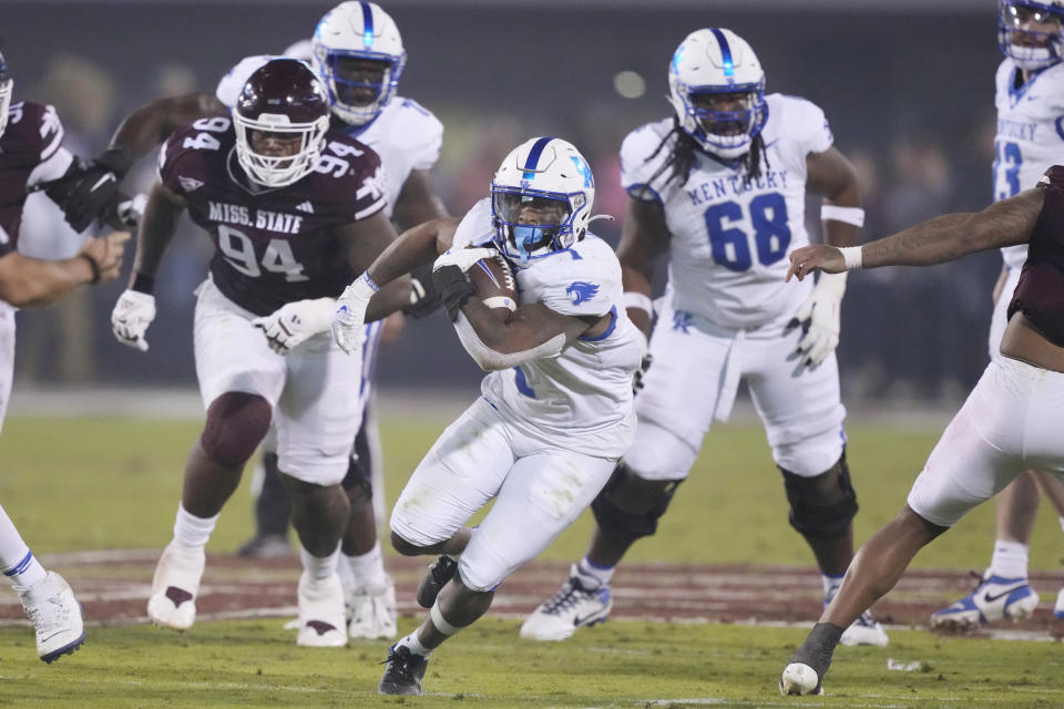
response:
[[(406, 63), (395, 21), (376, 3), (342, 2), (321, 19), (314, 40), (305, 44), (309, 45), (308, 52), (329, 92), (330, 127), (357, 137), (380, 157), (388, 195), (385, 214), (399, 228), (446, 216), (429, 175), (440, 154), (443, 126), (417, 102), (395, 94)], [(96, 169), (104, 173), (106, 164), (113, 163), (126, 165), (119, 171), (124, 174), (135, 157), (146, 154), (173, 131), (201, 117), (226, 114), (247, 78), (272, 59), (280, 58), (264, 54), (242, 60), (226, 73), (213, 95), (163, 99), (136, 110), (123, 121), (109, 150), (98, 158)], [(431, 278), (427, 273), (416, 275), (415, 292), (403, 312), (421, 317), (438, 305)], [(376, 512), (383, 505), (382, 492), (374, 494), (374, 485), (379, 487), (382, 465), (369, 410), (382, 321), (369, 322), (366, 329), (360, 387), (362, 425), (342, 482), (351, 513), (337, 571), (344, 584), (350, 637), (375, 639), (395, 637), (397, 613), (395, 586), (385, 571), (377, 541)], [(277, 469), (277, 436), (272, 427), (263, 442), (256, 534), (238, 553), (250, 557), (288, 554), (290, 504)]]

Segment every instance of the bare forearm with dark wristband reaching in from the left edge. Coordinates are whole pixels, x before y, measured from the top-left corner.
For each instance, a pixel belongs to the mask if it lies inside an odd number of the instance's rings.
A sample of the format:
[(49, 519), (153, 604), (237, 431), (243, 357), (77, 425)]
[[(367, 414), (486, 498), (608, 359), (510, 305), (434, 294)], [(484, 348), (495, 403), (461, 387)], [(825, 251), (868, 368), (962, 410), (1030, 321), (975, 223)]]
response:
[(0, 257), (0, 299), (17, 308), (43, 306), (79, 286), (114, 280), (129, 239), (129, 232), (89, 239), (76, 256), (58, 261), (10, 251)]

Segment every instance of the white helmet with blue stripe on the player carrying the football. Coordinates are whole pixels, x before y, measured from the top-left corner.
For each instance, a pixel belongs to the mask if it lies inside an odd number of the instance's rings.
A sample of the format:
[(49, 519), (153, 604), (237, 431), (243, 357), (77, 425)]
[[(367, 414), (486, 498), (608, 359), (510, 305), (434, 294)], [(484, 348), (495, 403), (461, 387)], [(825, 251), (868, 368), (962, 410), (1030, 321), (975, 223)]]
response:
[(583, 238), (594, 201), (591, 167), (572, 143), (522, 143), (491, 181), (495, 247), (521, 264), (567, 249)]

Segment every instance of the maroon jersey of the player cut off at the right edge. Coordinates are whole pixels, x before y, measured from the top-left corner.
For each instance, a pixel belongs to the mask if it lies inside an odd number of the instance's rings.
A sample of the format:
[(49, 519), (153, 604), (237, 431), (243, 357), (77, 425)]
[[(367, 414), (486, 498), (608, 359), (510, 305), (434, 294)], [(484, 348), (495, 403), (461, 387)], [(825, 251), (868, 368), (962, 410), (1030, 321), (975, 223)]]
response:
[(1031, 232), (1009, 317), (1023, 312), (1051, 342), (1064, 347), (1064, 167), (1055, 165), (1045, 174), (1050, 185)]

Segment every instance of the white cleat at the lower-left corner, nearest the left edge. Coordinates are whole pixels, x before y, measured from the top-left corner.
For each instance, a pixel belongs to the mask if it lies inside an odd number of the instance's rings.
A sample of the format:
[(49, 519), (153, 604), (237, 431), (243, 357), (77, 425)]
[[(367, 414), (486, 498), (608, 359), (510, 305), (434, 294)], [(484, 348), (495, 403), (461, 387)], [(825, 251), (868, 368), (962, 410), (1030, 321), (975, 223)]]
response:
[(32, 586), (16, 586), (25, 615), (37, 634), (37, 655), (51, 665), (63, 655), (73, 655), (85, 641), (81, 604), (70, 584), (55, 572)]

